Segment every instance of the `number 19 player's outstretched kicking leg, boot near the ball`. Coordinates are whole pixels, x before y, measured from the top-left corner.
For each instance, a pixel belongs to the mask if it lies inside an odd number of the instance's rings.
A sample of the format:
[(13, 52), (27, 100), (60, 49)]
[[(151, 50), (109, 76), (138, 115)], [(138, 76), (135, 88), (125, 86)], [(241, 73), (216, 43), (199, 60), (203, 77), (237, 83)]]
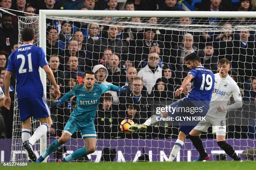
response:
[[(157, 119), (158, 117), (158, 119)], [(160, 114), (154, 114), (146, 120), (143, 124), (133, 124), (128, 127), (130, 132), (146, 131), (147, 127), (159, 121), (160, 117), (168, 117), (167, 112), (161, 112)]]

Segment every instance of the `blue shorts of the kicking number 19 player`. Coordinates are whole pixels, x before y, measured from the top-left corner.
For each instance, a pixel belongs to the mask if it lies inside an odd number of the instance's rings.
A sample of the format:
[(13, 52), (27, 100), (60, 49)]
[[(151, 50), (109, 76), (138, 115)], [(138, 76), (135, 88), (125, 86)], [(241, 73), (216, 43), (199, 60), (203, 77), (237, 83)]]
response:
[[(189, 132), (194, 129), (194, 127), (197, 126), (197, 124), (201, 121), (199, 117), (204, 117), (209, 109), (209, 101), (189, 101), (187, 98), (183, 100), (179, 100), (173, 104), (171, 104), (168, 107), (173, 107), (173, 108), (189, 108), (188, 110), (180, 109), (180, 112), (167, 112), (169, 117), (174, 118), (174, 122), (176, 120), (176, 117), (178, 118), (183, 118), (183, 117), (188, 117), (190, 118), (189, 120), (177, 120), (176, 122), (179, 122), (179, 131), (183, 132), (184, 134), (189, 134)], [(198, 108), (198, 110), (192, 110)], [(199, 112), (200, 110), (200, 112)], [(189, 111), (189, 112), (187, 112)]]

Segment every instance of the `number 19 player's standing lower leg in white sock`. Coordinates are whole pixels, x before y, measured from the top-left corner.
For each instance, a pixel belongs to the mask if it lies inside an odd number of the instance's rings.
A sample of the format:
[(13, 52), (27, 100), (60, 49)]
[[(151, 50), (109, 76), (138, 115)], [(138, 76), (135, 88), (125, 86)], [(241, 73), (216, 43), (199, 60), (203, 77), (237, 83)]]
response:
[(179, 132), (178, 139), (176, 140), (174, 146), (172, 147), (171, 154), (169, 156), (169, 159), (167, 160), (168, 162), (172, 162), (175, 159), (179, 150), (184, 145), (184, 141), (186, 137), (187, 137), (187, 134), (184, 134), (184, 132), (181, 132), (181, 131)]

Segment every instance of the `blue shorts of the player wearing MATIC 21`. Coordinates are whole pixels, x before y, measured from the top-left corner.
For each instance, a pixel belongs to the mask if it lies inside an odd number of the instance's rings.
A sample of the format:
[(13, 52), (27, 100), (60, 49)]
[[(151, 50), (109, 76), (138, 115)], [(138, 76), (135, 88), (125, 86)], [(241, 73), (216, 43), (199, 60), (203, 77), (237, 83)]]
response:
[(45, 97), (29, 97), (18, 99), (20, 121), (24, 122), (29, 117), (34, 119), (45, 118), (51, 115)]

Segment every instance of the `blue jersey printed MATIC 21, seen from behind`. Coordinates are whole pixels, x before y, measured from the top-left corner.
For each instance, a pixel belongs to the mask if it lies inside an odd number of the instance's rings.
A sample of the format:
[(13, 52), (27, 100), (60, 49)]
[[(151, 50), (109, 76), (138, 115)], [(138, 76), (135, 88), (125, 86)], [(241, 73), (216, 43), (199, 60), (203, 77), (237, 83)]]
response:
[(44, 96), (38, 69), (45, 65), (48, 63), (41, 47), (25, 44), (11, 53), (6, 70), (16, 74), (18, 99)]

